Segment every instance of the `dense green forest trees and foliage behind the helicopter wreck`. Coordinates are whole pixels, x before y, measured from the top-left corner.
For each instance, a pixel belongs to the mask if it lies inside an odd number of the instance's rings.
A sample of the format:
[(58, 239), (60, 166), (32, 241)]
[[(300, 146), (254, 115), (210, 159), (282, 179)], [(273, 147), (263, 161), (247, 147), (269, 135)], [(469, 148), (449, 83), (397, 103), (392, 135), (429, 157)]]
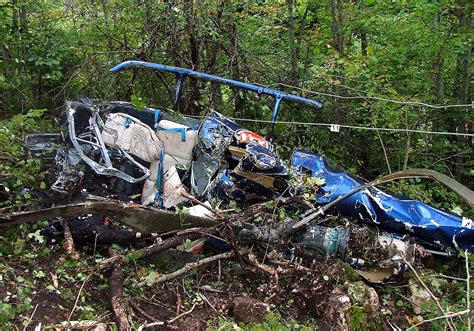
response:
[[(65, 99), (79, 96), (170, 107), (173, 75), (109, 71), (136, 59), (324, 104), (316, 110), (283, 102), (282, 121), (472, 133), (473, 6), (468, 0), (3, 0), (0, 117), (47, 109), (41, 119), (55, 119)], [(187, 80), (184, 91), (180, 109), (187, 114), (215, 109), (271, 118), (267, 97), (197, 80)], [(267, 125), (241, 124), (261, 132)], [(300, 147), (368, 179), (431, 168), (473, 186), (472, 136), (288, 124), (276, 130), (284, 157)], [(432, 184), (397, 185), (427, 202), (456, 206), (451, 193)]]

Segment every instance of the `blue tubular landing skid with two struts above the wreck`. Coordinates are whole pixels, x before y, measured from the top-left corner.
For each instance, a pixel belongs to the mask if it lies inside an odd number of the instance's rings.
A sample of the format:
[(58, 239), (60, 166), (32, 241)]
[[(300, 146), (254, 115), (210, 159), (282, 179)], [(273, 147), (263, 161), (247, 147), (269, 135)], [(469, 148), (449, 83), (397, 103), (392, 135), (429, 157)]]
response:
[(166, 71), (166, 72), (172, 72), (172, 73), (175, 73), (176, 75), (178, 75), (178, 84), (177, 84), (177, 89), (176, 89), (176, 99), (175, 99), (175, 104), (174, 104), (175, 108), (177, 108), (179, 98), (180, 98), (180, 95), (181, 95), (182, 82), (183, 82), (184, 77), (186, 77), (186, 76), (190, 76), (190, 77), (194, 77), (194, 78), (198, 78), (198, 79), (203, 79), (203, 80), (210, 80), (210, 81), (214, 81), (214, 82), (219, 82), (219, 83), (222, 83), (222, 84), (225, 84), (225, 85), (235, 86), (235, 87), (238, 87), (238, 88), (241, 88), (241, 89), (244, 89), (244, 90), (248, 90), (248, 91), (252, 91), (252, 92), (255, 92), (255, 93), (259, 93), (259, 94), (270, 95), (270, 96), (275, 98), (275, 106), (274, 106), (274, 109), (273, 109), (272, 121), (271, 121), (270, 127), (269, 127), (270, 132), (273, 130), (273, 127), (275, 126), (275, 121), (276, 121), (277, 115), (278, 115), (278, 109), (280, 107), (281, 100), (283, 100), (283, 99), (288, 100), (288, 101), (294, 101), (294, 102), (298, 102), (298, 103), (307, 104), (307, 105), (316, 107), (317, 109), (320, 109), (323, 106), (321, 103), (319, 103), (317, 101), (307, 99), (307, 98), (303, 98), (303, 97), (300, 97), (300, 96), (297, 96), (297, 95), (294, 95), (294, 94), (288, 94), (288, 93), (284, 93), (282, 91), (273, 90), (273, 89), (269, 89), (269, 88), (262, 87), (262, 86), (257, 86), (257, 85), (253, 85), (253, 84), (239, 82), (237, 80), (223, 78), (223, 77), (219, 77), (219, 76), (214, 76), (214, 75), (210, 75), (210, 74), (206, 74), (206, 73), (203, 73), (203, 72), (194, 71), (194, 70), (190, 70), (190, 69), (167, 66), (167, 65), (164, 65), (164, 64), (143, 62), (143, 61), (125, 61), (125, 62), (122, 62), (122, 63), (116, 65), (115, 67), (113, 67), (110, 70), (113, 71), (113, 72), (118, 72), (118, 71), (120, 71), (122, 69), (125, 69), (125, 68), (128, 68), (128, 67), (146, 67), (146, 68), (152, 68), (152, 69)]

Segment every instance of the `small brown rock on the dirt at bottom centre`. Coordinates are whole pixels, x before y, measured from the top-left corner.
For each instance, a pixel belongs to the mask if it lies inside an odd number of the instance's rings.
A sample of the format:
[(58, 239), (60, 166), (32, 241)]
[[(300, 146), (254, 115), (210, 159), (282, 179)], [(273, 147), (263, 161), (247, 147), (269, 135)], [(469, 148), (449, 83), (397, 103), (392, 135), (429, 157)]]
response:
[(244, 323), (262, 323), (270, 312), (270, 306), (266, 303), (247, 297), (234, 298), (232, 308), (234, 319)]

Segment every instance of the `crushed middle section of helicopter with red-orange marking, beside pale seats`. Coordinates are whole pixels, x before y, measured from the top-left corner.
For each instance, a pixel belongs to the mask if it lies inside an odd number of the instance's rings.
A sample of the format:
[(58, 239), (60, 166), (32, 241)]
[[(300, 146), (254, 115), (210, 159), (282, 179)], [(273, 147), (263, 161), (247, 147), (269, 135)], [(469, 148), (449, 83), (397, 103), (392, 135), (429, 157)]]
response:
[(262, 136), (213, 112), (199, 131), (192, 192), (218, 203), (276, 198), (286, 188), (288, 170), (272, 149)]

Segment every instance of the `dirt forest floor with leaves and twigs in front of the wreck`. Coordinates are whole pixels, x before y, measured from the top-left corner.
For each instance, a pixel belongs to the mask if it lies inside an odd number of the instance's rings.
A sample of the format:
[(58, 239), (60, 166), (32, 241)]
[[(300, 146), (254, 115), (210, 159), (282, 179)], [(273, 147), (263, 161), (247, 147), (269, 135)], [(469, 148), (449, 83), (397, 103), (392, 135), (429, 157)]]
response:
[[(23, 224), (0, 233), (0, 324), (6, 329), (115, 325), (110, 300), (113, 271), (95, 268), (107, 251), (78, 247), (79, 259), (73, 259), (61, 242), (52, 243), (41, 234), (46, 224)], [(150, 323), (176, 330), (406, 328), (448, 310), (463, 311), (466, 298), (470, 300), (463, 279), (465, 261), (456, 258), (432, 259), (417, 270), (417, 276), (406, 272), (386, 284), (365, 282), (338, 260), (300, 260), (291, 268), (274, 265), (269, 270), (239, 258), (215, 261), (155, 283), (160, 275), (200, 257), (172, 250), (123, 265), (132, 329)], [(344, 304), (345, 297), (350, 303)], [(452, 323), (464, 328), (466, 317), (460, 314)], [(434, 323), (420, 327), (443, 328), (446, 321)]]

